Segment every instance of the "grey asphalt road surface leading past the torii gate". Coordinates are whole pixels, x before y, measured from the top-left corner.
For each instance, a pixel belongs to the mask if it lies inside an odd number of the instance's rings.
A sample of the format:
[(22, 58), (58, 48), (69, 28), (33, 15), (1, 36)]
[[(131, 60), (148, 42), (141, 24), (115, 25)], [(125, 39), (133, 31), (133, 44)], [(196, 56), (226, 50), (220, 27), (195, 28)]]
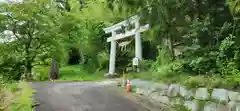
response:
[(150, 111), (110, 85), (96, 82), (32, 83), (36, 111)]

